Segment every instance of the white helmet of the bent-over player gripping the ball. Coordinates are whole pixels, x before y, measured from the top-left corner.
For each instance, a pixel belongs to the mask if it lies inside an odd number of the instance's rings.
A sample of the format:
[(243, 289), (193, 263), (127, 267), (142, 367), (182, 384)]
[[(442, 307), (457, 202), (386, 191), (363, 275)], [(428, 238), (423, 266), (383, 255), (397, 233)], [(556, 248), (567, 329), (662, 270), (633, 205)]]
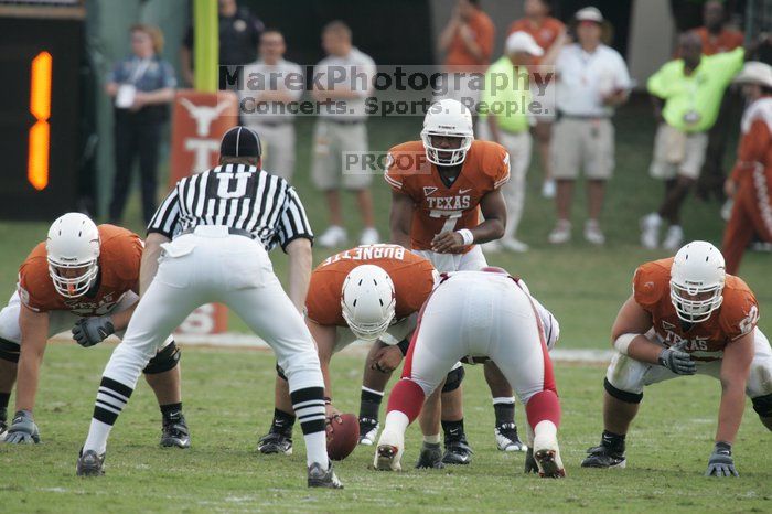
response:
[(357, 266), (343, 280), (343, 319), (361, 340), (375, 341), (386, 332), (396, 303), (392, 277), (378, 266)]

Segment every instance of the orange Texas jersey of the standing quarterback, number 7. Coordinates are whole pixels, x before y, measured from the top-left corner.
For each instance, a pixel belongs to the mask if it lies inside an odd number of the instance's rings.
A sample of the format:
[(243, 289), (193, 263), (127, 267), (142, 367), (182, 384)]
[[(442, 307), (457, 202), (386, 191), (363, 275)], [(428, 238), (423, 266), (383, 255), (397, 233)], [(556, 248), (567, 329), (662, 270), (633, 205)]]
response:
[(384, 176), (394, 191), (410, 196), (415, 204), (410, 246), (430, 250), (437, 234), (480, 224), (480, 200), (510, 180), (510, 154), (498, 143), (472, 141), (461, 173), (448, 188), (427, 160), (423, 143), (410, 141), (389, 150)]

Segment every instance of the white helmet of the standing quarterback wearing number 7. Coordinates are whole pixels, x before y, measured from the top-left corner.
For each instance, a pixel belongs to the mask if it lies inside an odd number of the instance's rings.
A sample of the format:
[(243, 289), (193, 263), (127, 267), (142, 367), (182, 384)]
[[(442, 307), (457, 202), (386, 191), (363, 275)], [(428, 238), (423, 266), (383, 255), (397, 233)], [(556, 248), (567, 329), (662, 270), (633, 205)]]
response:
[[(453, 149), (437, 148), (431, 144), (432, 136), (460, 138), (461, 144)], [(423, 118), (423, 130), (421, 130), (421, 141), (429, 162), (437, 165), (461, 164), (473, 140), (472, 114), (462, 103), (447, 98), (429, 107)], [(440, 153), (450, 157), (440, 158)]]

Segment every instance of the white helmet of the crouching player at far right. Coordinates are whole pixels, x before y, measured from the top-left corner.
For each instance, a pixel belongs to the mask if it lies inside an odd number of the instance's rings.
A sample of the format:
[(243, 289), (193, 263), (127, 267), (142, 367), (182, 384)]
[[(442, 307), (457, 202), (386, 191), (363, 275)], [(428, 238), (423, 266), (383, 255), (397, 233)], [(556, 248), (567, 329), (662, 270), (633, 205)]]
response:
[(693, 240), (678, 250), (671, 268), (671, 301), (678, 318), (700, 323), (721, 307), (723, 256), (710, 243)]

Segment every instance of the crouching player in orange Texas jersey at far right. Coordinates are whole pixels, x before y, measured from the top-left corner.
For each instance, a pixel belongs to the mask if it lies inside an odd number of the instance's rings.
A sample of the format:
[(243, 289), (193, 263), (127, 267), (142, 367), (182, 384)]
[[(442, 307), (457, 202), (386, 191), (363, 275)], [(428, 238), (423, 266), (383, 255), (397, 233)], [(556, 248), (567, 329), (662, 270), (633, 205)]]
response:
[(701, 374), (721, 381), (716, 445), (706, 475), (737, 476), (731, 446), (744, 396), (772, 430), (772, 350), (757, 328), (759, 306), (740, 278), (725, 272), (723, 256), (696, 240), (675, 257), (637, 268), (633, 295), (612, 328), (616, 354), (605, 374), (601, 443), (585, 468), (624, 468), (625, 435), (644, 386)]

